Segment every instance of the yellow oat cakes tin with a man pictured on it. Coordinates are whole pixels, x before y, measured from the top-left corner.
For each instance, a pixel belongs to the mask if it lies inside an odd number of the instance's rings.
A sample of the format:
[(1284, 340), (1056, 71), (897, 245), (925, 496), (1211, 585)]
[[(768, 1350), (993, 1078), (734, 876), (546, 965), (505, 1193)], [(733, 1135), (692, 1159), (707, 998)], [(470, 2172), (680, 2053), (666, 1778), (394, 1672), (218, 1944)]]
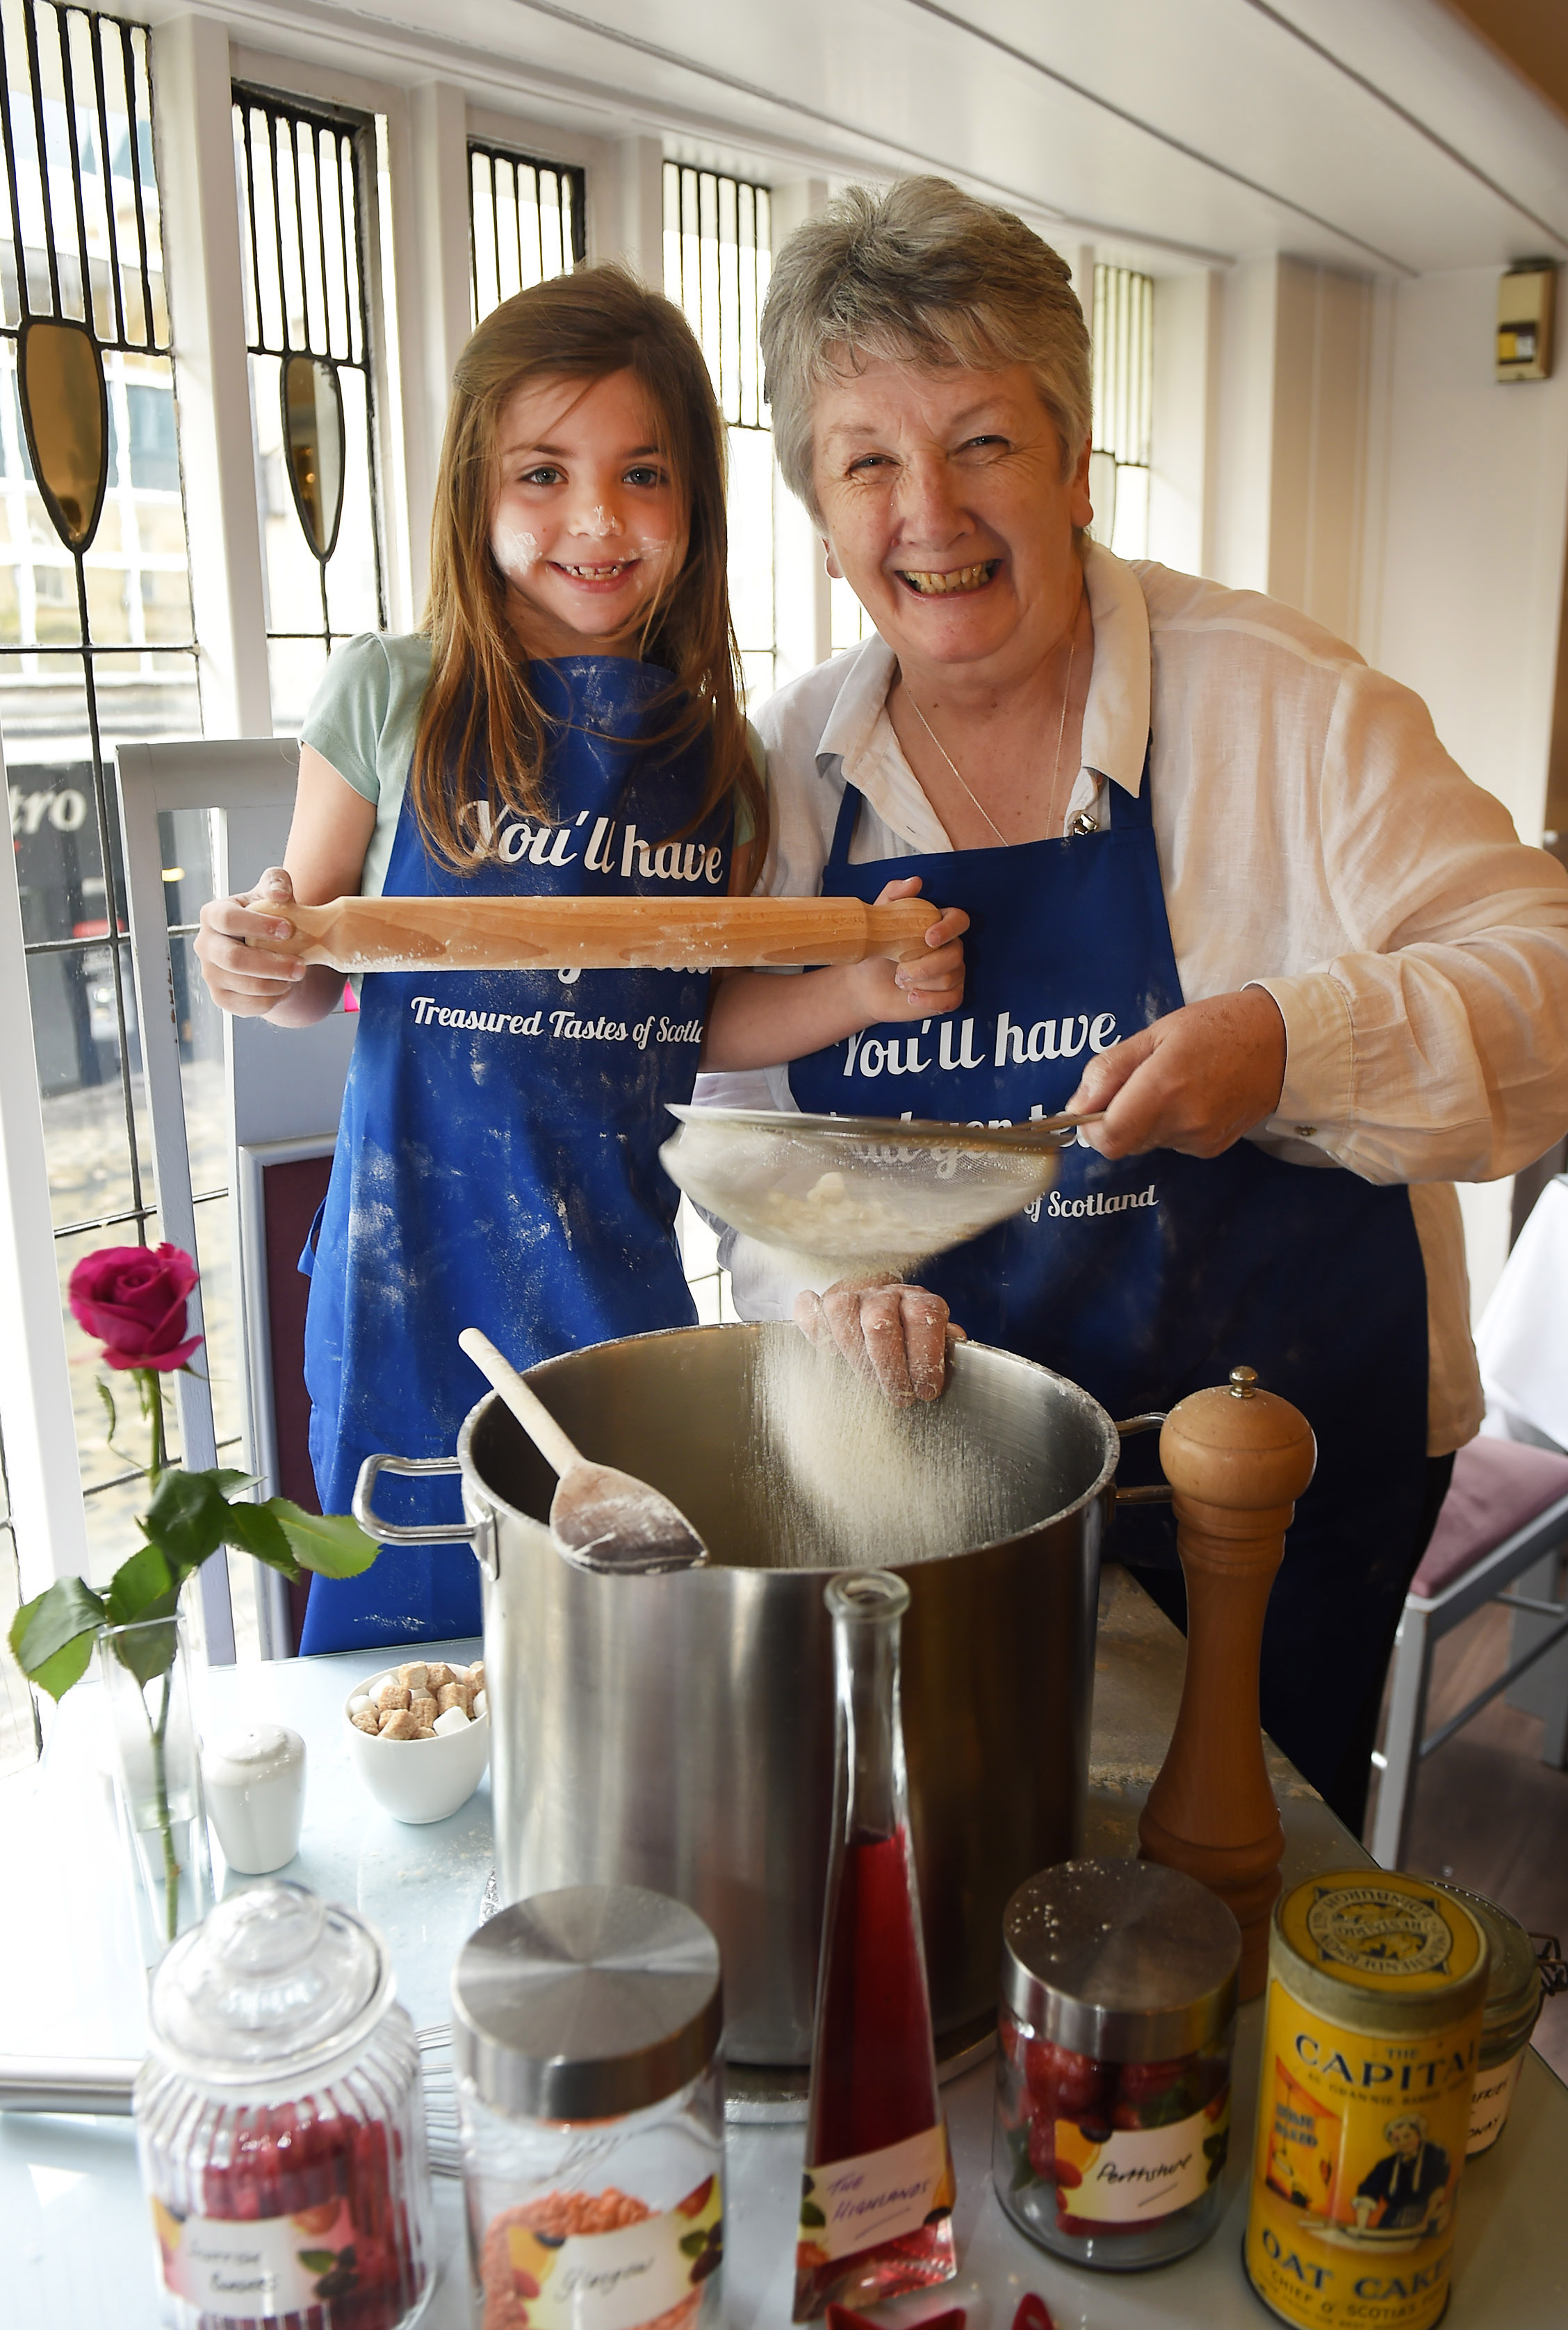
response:
[(1484, 1999), (1486, 1934), (1435, 1885), (1344, 1869), (1274, 1904), (1246, 2274), (1284, 2321), (1447, 2307)]

